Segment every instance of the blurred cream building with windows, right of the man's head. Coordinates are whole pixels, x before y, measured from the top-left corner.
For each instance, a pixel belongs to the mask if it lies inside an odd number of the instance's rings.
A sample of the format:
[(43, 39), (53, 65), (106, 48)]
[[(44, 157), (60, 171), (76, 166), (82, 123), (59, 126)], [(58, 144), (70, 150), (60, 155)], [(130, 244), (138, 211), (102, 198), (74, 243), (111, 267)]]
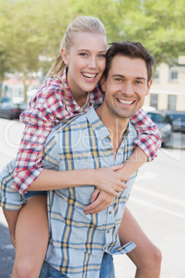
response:
[(159, 110), (185, 111), (185, 57), (174, 65), (159, 64), (144, 105)]

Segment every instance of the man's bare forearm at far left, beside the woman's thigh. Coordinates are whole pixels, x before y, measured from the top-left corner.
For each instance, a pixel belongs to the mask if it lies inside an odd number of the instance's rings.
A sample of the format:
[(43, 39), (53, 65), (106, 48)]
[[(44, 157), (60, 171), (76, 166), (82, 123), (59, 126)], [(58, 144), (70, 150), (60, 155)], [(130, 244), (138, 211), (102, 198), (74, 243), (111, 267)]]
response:
[(19, 215), (19, 210), (5, 210), (3, 209), (3, 214), (6, 218), (6, 221), (8, 223), (8, 228), (10, 232), (10, 240), (12, 242), (12, 245), (15, 248), (15, 227), (17, 223), (17, 217)]

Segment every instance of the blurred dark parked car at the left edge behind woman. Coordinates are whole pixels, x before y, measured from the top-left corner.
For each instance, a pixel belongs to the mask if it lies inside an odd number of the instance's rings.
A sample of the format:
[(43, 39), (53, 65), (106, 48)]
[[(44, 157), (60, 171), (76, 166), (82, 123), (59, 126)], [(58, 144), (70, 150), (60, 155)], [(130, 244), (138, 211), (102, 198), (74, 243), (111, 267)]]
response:
[(10, 101), (0, 104), (0, 118), (19, 119), (22, 112), (23, 108), (19, 104), (13, 104)]

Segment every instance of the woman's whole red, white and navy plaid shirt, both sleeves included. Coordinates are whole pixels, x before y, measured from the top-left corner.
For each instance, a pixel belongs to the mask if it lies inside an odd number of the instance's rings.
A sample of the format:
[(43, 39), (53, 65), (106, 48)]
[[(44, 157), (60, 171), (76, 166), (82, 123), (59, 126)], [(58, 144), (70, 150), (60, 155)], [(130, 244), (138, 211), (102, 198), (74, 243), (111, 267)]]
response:
[[(43, 145), (52, 127), (61, 120), (88, 111), (91, 103), (103, 101), (104, 92), (100, 84), (97, 84), (95, 89), (88, 93), (86, 104), (80, 107), (70, 92), (66, 69), (61, 80), (64, 82), (66, 95), (61, 81), (57, 77), (50, 77), (43, 82), (41, 89), (33, 96), (27, 109), (20, 116), (21, 122), (25, 123), (26, 127), (17, 154), (11, 187), (21, 194), (26, 192), (43, 169), (41, 167)], [(135, 145), (145, 152), (148, 161), (153, 160), (162, 143), (157, 127), (142, 109), (130, 120), (138, 133)]]

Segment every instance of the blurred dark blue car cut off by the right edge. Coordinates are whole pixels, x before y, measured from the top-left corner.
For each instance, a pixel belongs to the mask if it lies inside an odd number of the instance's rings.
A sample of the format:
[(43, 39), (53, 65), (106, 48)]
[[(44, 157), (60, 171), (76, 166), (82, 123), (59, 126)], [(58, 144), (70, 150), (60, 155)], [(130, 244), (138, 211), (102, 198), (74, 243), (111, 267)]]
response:
[(167, 111), (171, 118), (174, 132), (185, 132), (185, 111)]

